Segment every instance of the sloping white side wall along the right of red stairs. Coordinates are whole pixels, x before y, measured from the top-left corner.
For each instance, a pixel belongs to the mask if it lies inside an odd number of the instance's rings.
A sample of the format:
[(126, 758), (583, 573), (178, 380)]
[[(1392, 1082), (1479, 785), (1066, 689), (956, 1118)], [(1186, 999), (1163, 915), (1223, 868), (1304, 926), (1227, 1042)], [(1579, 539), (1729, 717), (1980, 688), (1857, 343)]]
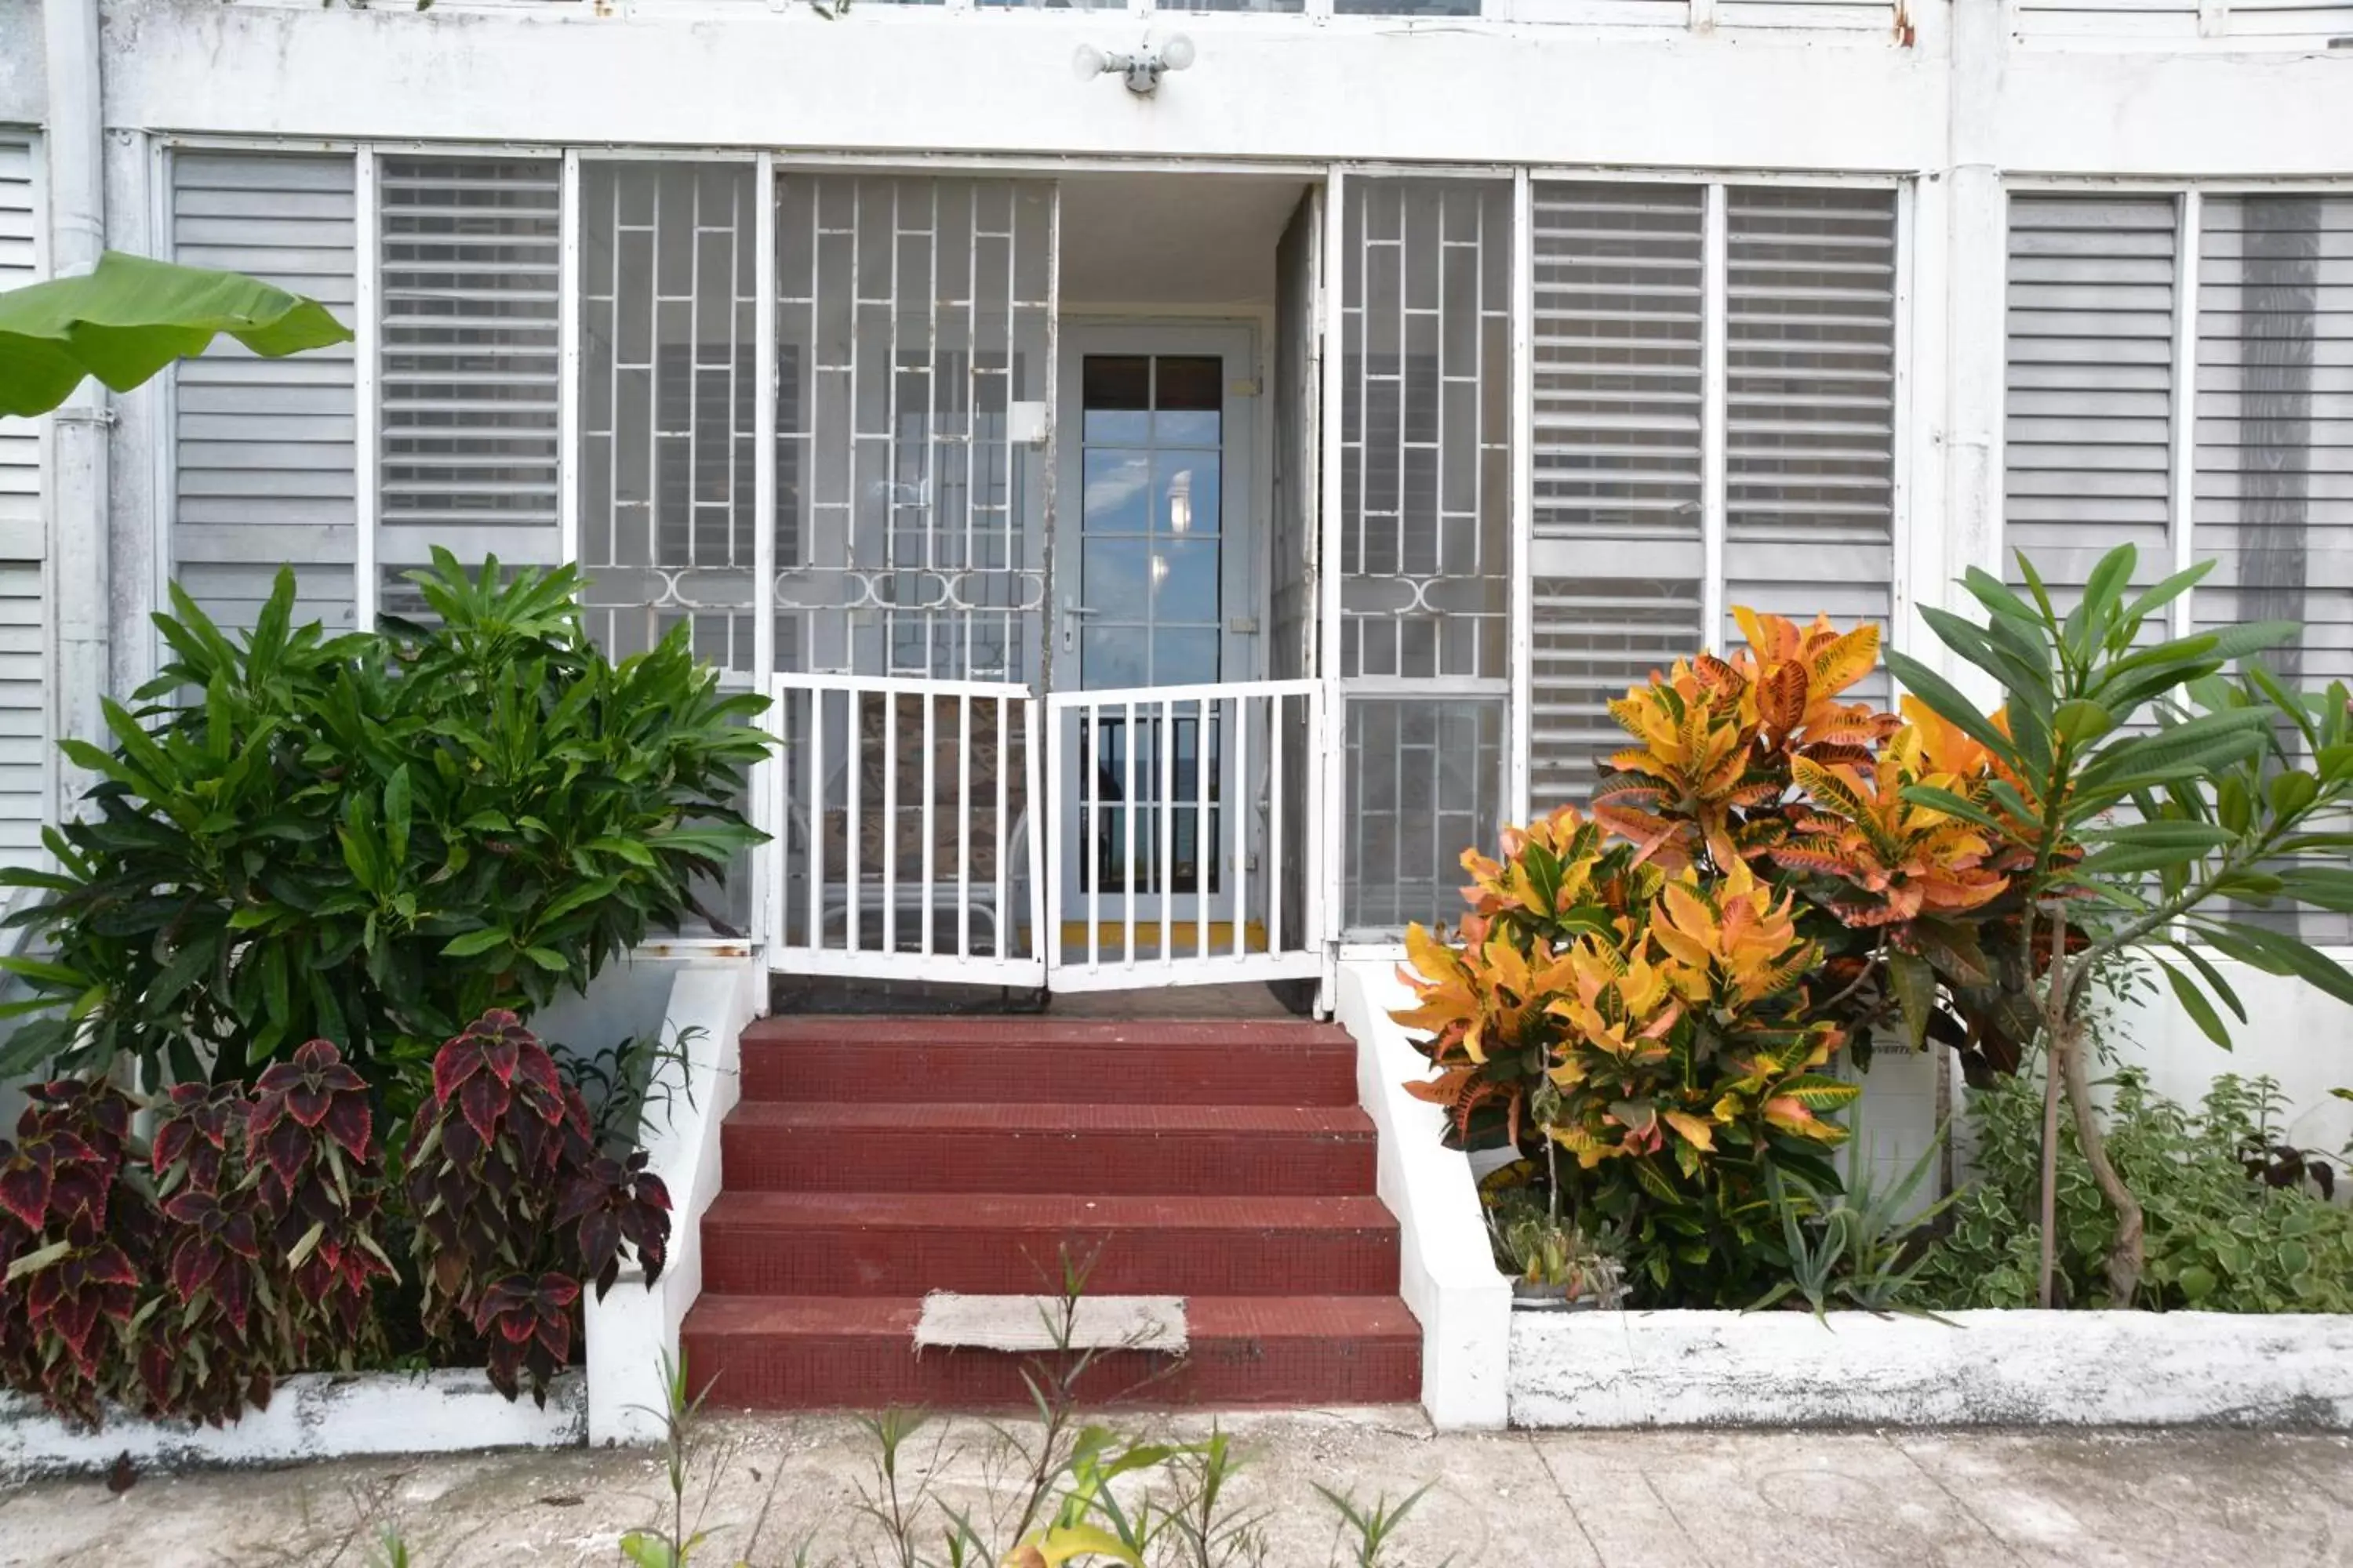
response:
[(1501, 1427), (1511, 1281), (1494, 1267), (1471, 1161), (1440, 1147), (1445, 1112), (1405, 1093), (1431, 1063), (1388, 1009), (1412, 992), (1391, 964), (1341, 964), (1334, 1018), (1355, 1037), (1355, 1093), (1381, 1135), (1379, 1194), (1398, 1215), (1398, 1288), (1421, 1319), (1421, 1408), (1440, 1429)]

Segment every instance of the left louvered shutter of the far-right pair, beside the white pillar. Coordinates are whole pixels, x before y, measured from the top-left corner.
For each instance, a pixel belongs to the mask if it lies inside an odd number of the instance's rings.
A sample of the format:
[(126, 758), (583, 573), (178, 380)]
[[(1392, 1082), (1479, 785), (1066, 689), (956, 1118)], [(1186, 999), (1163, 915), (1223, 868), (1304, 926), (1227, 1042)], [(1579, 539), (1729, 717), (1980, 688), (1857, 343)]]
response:
[(2120, 543), (2172, 564), (2174, 200), (2009, 200), (2002, 559), (2082, 588)]

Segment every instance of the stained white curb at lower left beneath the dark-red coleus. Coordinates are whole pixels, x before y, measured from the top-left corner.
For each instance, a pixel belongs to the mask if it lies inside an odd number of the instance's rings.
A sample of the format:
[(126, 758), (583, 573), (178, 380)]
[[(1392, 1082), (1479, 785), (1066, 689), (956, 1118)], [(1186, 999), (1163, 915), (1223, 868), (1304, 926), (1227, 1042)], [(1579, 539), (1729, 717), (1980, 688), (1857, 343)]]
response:
[(0, 1394), (0, 1481), (106, 1469), (129, 1455), (141, 1469), (188, 1465), (285, 1465), (360, 1453), (471, 1453), (475, 1448), (572, 1448), (588, 1436), (588, 1389), (579, 1373), (508, 1401), (480, 1368), (433, 1373), (296, 1373), (264, 1410), (228, 1427), (108, 1420), (89, 1429), (59, 1420), (21, 1394)]

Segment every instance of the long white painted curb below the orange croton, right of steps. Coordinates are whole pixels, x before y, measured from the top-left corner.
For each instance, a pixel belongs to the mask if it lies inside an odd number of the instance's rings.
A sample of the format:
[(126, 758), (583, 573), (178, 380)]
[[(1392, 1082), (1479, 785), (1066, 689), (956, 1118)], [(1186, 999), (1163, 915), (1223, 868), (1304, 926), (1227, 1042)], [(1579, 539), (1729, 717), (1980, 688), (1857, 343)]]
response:
[(2353, 1429), (2353, 1316), (1518, 1312), (1515, 1427)]

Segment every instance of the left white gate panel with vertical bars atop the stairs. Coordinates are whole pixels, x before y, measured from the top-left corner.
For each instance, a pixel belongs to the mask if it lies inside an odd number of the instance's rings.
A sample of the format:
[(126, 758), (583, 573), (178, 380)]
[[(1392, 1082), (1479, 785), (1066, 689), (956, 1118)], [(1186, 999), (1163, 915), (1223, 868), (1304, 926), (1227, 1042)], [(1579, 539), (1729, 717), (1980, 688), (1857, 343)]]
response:
[(1042, 985), (1028, 686), (776, 675), (769, 693), (772, 966)]

